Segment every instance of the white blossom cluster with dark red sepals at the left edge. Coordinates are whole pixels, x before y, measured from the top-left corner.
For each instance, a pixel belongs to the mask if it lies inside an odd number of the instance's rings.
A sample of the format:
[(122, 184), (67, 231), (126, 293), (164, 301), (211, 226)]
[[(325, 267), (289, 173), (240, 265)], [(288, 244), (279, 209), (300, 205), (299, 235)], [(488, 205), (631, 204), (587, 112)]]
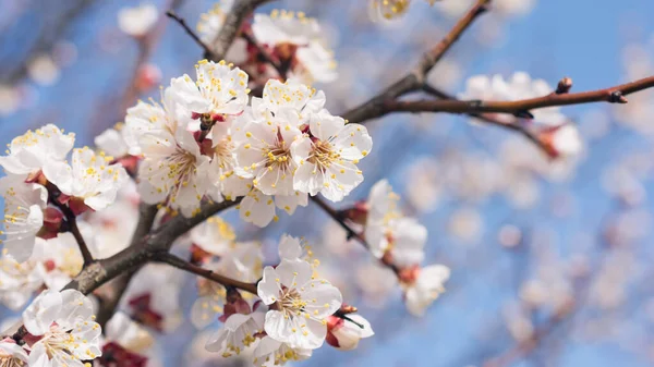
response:
[[(72, 149), (74, 140), (74, 134), (64, 134), (49, 124), (14, 138), (8, 155), (0, 157), (7, 174), (0, 179), (4, 197), (4, 252), (17, 262), (27, 261), (41, 240), (51, 243), (57, 238), (70, 225), (66, 213), (77, 216), (107, 208), (128, 182), (125, 169), (113, 157), (88, 147)], [(61, 246), (69, 243), (68, 238), (58, 241)], [(35, 255), (49, 254), (52, 253), (46, 250)], [(53, 259), (55, 266), (65, 267), (61, 262), (65, 259)]]

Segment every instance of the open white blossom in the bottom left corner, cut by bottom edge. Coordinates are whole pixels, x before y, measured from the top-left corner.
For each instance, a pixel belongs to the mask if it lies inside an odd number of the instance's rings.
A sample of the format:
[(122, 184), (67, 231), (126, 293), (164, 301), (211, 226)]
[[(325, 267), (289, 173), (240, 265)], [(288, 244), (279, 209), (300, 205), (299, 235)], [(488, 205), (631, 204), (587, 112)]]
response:
[(100, 326), (92, 302), (75, 290), (44, 291), (23, 313), (25, 329), (40, 339), (32, 345), (31, 366), (83, 367), (99, 348)]

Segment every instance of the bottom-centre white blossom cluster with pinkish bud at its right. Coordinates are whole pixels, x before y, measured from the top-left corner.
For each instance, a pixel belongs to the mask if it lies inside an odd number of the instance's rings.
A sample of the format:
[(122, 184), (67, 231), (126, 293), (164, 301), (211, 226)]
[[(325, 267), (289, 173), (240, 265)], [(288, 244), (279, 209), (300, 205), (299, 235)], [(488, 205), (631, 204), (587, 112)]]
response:
[(219, 318), (225, 326), (209, 338), (206, 348), (223, 357), (250, 351), (256, 366), (270, 366), (306, 359), (325, 341), (351, 350), (373, 335), (363, 317), (349, 315), (355, 308), (342, 304), (340, 291), (320, 278), (318, 261), (307, 258), (311, 254), (298, 238), (283, 235), (280, 262), (263, 269), (258, 298), (225, 291)]

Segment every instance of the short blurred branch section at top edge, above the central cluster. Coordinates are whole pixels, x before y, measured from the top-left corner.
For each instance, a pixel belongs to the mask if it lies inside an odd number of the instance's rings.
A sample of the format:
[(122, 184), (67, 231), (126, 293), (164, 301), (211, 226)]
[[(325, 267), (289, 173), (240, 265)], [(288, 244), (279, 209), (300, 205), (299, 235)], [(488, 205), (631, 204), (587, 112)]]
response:
[(213, 44), (213, 52), (211, 54), (206, 54), (207, 59), (214, 61), (220, 61), (225, 58), (227, 50), (234, 41), (237, 34), (241, 30), (241, 24), (246, 16), (252, 14), (252, 12), (256, 9), (256, 7), (269, 2), (271, 0), (240, 0), (237, 1), (225, 22), (222, 23), (222, 27), (216, 38), (214, 38)]

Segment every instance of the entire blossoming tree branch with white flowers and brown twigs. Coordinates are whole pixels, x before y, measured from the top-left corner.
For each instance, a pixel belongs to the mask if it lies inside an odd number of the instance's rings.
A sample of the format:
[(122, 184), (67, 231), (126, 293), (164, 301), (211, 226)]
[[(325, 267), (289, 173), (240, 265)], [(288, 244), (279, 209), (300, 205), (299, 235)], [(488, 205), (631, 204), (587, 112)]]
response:
[[(98, 135), (95, 147), (75, 147), (74, 133), (53, 124), (11, 142), (0, 157), (0, 301), (26, 308), (4, 331), (0, 365), (145, 366), (156, 358), (150, 332), (179, 323), (179, 288), (158, 290), (180, 284), (182, 271), (196, 276), (192, 323), (222, 325), (206, 343), (209, 352), (272, 366), (310, 358), (325, 343), (353, 350), (373, 328), (322, 274), (303, 234), (282, 235), (278, 260), (264, 266), (261, 244), (239, 241), (223, 211), (233, 208), (264, 228), (315, 204), (393, 271), (407, 310), (421, 316), (450, 277), (445, 266), (423, 264), (426, 228), (400, 210), (385, 180), (367, 200), (332, 207), (364, 180), (358, 164), (375, 151), (365, 123), (395, 112), (464, 113), (565, 159), (581, 142), (553, 108), (626, 103), (654, 85), (649, 77), (571, 93), (569, 77), (553, 89), (517, 73), (508, 82), (470, 81), (459, 98), (439, 90), (426, 74), (493, 11), (491, 0), (477, 0), (411, 73), (335, 114), (325, 108), (328, 96), (311, 86), (338, 76), (318, 22), (302, 12), (257, 12), (265, 2), (222, 1), (203, 14), (198, 33), (169, 12), (205, 59), (194, 75), (162, 86), (158, 101), (130, 107), (124, 123)], [(426, 7), (410, 2), (371, 0), (370, 13), (392, 22), (410, 5)], [(152, 12), (126, 10), (122, 28), (143, 37)], [(501, 93), (488, 94), (489, 84)], [(132, 228), (106, 224), (131, 212), (137, 218), (121, 222)]]

